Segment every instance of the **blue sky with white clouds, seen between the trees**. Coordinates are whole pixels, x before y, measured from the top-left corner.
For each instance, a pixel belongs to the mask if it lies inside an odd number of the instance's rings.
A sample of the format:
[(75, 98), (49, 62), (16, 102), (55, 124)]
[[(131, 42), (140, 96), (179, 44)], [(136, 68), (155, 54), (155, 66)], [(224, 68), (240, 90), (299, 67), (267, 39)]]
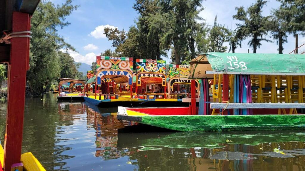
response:
[[(61, 4), (63, 0), (52, 0), (52, 2)], [(111, 47), (111, 41), (108, 41), (103, 35), (103, 28), (110, 26), (128, 30), (130, 26), (135, 25), (138, 13), (132, 8), (134, 2), (135, 0), (74, 0), (73, 4), (80, 5), (80, 7), (66, 18), (71, 24), (62, 30), (59, 29), (59, 34), (77, 50), (77, 52), (69, 51), (75, 61), (91, 65), (91, 62), (95, 61), (96, 55), (105, 49), (114, 49)], [(217, 15), (217, 22), (225, 24), (229, 29), (234, 29), (236, 28), (235, 23), (238, 23), (232, 18), (236, 14), (235, 7), (247, 8), (253, 2), (255, 0), (206, 0), (202, 2), (205, 9), (200, 16), (206, 19), (206, 23), (213, 25), (214, 17)], [(263, 8), (263, 15), (269, 15), (270, 10), (279, 5), (279, 2), (270, 0)], [(267, 38), (272, 40), (272, 38)], [(247, 53), (249, 48), (247, 42), (248, 40), (243, 41), (242, 48), (237, 48), (235, 52)], [(303, 43), (305, 43), (305, 38), (299, 35), (299, 45)], [(288, 43), (284, 44), (283, 53), (289, 53), (294, 46), (295, 38), (289, 35)], [(276, 41), (274, 43), (263, 42), (257, 53), (278, 53), (277, 49)], [(170, 61), (166, 58), (164, 60), (167, 63)]]

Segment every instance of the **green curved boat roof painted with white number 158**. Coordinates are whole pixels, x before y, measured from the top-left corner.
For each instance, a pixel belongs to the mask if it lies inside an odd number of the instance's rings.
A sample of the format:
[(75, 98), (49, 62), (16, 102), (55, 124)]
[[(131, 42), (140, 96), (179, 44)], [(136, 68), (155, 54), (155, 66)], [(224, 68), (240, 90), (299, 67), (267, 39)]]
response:
[(305, 55), (300, 54), (210, 52), (190, 62), (194, 66), (193, 72), (200, 67), (198, 64), (207, 64), (203, 61), (205, 57), (213, 70), (205, 70), (206, 74), (305, 75)]

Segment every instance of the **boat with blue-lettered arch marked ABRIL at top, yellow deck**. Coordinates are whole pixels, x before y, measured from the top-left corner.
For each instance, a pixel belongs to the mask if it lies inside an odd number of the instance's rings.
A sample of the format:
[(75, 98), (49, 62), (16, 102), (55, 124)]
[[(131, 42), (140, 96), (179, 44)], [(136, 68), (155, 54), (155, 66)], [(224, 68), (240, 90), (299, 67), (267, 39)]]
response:
[[(100, 107), (118, 106), (118, 104), (136, 106), (145, 101), (133, 98), (135, 95), (132, 91), (133, 58), (97, 56), (96, 63), (96, 76), (94, 82), (88, 80), (85, 101)], [(122, 84), (127, 85), (127, 92), (118, 92), (117, 87)], [(91, 91), (90, 85), (94, 85)]]

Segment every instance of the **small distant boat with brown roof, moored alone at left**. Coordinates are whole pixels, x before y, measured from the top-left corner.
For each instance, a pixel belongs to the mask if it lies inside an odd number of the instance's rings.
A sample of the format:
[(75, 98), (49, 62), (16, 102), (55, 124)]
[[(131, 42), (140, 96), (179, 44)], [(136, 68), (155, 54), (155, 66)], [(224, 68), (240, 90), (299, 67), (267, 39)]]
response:
[[(84, 100), (84, 86), (85, 83), (80, 79), (62, 78), (59, 81), (59, 95), (58, 100)], [(65, 95), (61, 95), (65, 92)]]

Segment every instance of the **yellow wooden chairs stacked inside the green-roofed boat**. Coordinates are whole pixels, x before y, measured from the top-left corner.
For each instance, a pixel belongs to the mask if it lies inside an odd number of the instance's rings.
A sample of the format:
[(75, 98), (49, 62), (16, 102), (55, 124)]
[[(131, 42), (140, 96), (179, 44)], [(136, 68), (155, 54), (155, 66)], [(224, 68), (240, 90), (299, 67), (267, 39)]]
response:
[[(234, 75), (229, 76), (229, 102), (233, 102)], [(251, 75), (253, 103), (304, 103), (305, 76), (298, 75)], [(222, 102), (222, 75), (214, 75), (211, 84), (213, 102)], [(214, 111), (212, 112), (214, 113)], [(280, 109), (278, 114), (286, 114)], [(289, 114), (297, 114), (290, 109)]]

